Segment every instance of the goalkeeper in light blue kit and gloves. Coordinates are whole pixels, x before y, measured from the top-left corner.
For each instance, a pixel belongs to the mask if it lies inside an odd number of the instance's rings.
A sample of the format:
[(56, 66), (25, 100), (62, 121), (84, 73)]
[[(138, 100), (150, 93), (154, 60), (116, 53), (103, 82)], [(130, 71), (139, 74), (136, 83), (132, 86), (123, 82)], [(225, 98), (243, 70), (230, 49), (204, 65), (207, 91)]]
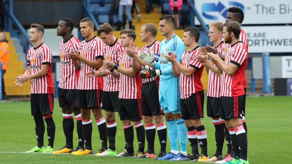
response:
[[(141, 71), (139, 76), (143, 79), (149, 79), (154, 76), (160, 76), (159, 80), (159, 102), (164, 111), (165, 119), (168, 124), (168, 137), (171, 145), (171, 151), (158, 160), (179, 160), (182, 155), (187, 155), (187, 128), (180, 112), (180, 89), (179, 78), (174, 77), (171, 69), (171, 62), (168, 62), (165, 55), (170, 51), (177, 54), (177, 60), (181, 61), (182, 53), (185, 51), (185, 45), (180, 37), (174, 33), (175, 21), (170, 15), (162, 16), (159, 22), (159, 30), (166, 38), (160, 43), (159, 55), (151, 52), (143, 52), (140, 59), (150, 63), (147, 71)], [(157, 61), (154, 60), (154, 57)], [(151, 68), (153, 66), (156, 70)], [(178, 142), (180, 142), (180, 151), (178, 151)]]

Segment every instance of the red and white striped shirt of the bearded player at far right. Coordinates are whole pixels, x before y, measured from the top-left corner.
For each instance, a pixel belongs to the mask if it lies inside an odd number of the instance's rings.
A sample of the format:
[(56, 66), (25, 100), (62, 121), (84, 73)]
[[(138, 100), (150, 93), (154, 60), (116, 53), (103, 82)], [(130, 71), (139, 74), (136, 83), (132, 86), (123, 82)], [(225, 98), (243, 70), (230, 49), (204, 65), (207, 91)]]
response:
[(232, 76), (228, 76), (224, 71), (221, 75), (221, 91), (220, 96), (241, 96), (244, 95), (244, 88), (241, 84), (241, 78), (247, 68), (248, 53), (244, 43), (239, 41), (231, 45), (229, 48), (225, 64), (233, 63), (238, 69)]

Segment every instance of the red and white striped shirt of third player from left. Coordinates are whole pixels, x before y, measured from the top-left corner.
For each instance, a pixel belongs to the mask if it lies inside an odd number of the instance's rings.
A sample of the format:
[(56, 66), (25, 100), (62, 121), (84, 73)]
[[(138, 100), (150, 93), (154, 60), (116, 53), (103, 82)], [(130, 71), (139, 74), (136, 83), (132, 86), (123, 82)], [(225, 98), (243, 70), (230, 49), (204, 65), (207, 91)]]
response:
[[(79, 54), (88, 60), (95, 61), (98, 58), (103, 57), (103, 46), (104, 43), (98, 37), (94, 36), (89, 41), (82, 41), (79, 47)], [(89, 89), (99, 89), (103, 90), (104, 88), (104, 79), (103, 77), (94, 76), (93, 78), (86, 78), (85, 73), (89, 72), (90, 69), (96, 71), (98, 69), (90, 67), (83, 62), (80, 62), (80, 76), (78, 79), (77, 89), (89, 90)]]

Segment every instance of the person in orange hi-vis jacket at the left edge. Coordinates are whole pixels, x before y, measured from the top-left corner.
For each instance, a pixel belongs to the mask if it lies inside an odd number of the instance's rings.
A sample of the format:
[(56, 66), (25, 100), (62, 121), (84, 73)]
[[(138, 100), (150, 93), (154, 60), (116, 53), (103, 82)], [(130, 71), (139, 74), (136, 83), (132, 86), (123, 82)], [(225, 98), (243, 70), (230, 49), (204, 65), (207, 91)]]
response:
[(4, 91), (4, 78), (3, 75), (8, 68), (9, 62), (9, 45), (8, 41), (6, 40), (6, 36), (4, 33), (0, 33), (0, 60), (2, 64), (2, 98), (5, 97), (6, 93)]

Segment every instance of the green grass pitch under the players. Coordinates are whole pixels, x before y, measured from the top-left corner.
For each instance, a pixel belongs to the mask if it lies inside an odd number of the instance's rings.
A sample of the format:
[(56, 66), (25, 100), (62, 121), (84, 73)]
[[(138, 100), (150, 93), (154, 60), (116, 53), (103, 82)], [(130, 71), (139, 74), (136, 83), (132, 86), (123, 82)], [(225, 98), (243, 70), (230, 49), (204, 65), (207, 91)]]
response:
[[(62, 128), (62, 112), (54, 104), (54, 121), (56, 124), (55, 150), (65, 145), (65, 137)], [(248, 158), (250, 163), (292, 163), (292, 97), (247, 97), (246, 120), (248, 126)], [(211, 118), (206, 116), (203, 123), (208, 134), (208, 154), (212, 157), (215, 153), (215, 128)], [(117, 115), (118, 116), (118, 115)], [(94, 118), (92, 117), (92, 120)], [(76, 122), (74, 120), (74, 122)], [(95, 122), (92, 132), (92, 147), (95, 153), (101, 148), (98, 129)], [(97, 156), (73, 156), (56, 154), (25, 154), (12, 153), (28, 151), (36, 145), (34, 120), (30, 113), (30, 102), (0, 102), (0, 163), (162, 163), (153, 159), (134, 159), (132, 157), (97, 157)], [(75, 125), (76, 126), (76, 125)], [(117, 117), (117, 153), (124, 149), (124, 131)], [(135, 131), (135, 130), (134, 130)], [(46, 132), (44, 138), (46, 138)], [(76, 127), (74, 129), (74, 147), (77, 146)], [(45, 140), (45, 145), (48, 143)], [(170, 150), (167, 141), (167, 151)], [(145, 145), (147, 149), (147, 144)], [(137, 151), (136, 131), (134, 148)], [(156, 133), (155, 151), (159, 153), (159, 140)], [(226, 145), (223, 147), (223, 155), (226, 154)], [(188, 145), (188, 153), (190, 153)], [(163, 163), (169, 161), (163, 161)], [(175, 162), (174, 162), (175, 163)], [(178, 162), (182, 163), (182, 162)], [(191, 163), (185, 161), (184, 163)]]

